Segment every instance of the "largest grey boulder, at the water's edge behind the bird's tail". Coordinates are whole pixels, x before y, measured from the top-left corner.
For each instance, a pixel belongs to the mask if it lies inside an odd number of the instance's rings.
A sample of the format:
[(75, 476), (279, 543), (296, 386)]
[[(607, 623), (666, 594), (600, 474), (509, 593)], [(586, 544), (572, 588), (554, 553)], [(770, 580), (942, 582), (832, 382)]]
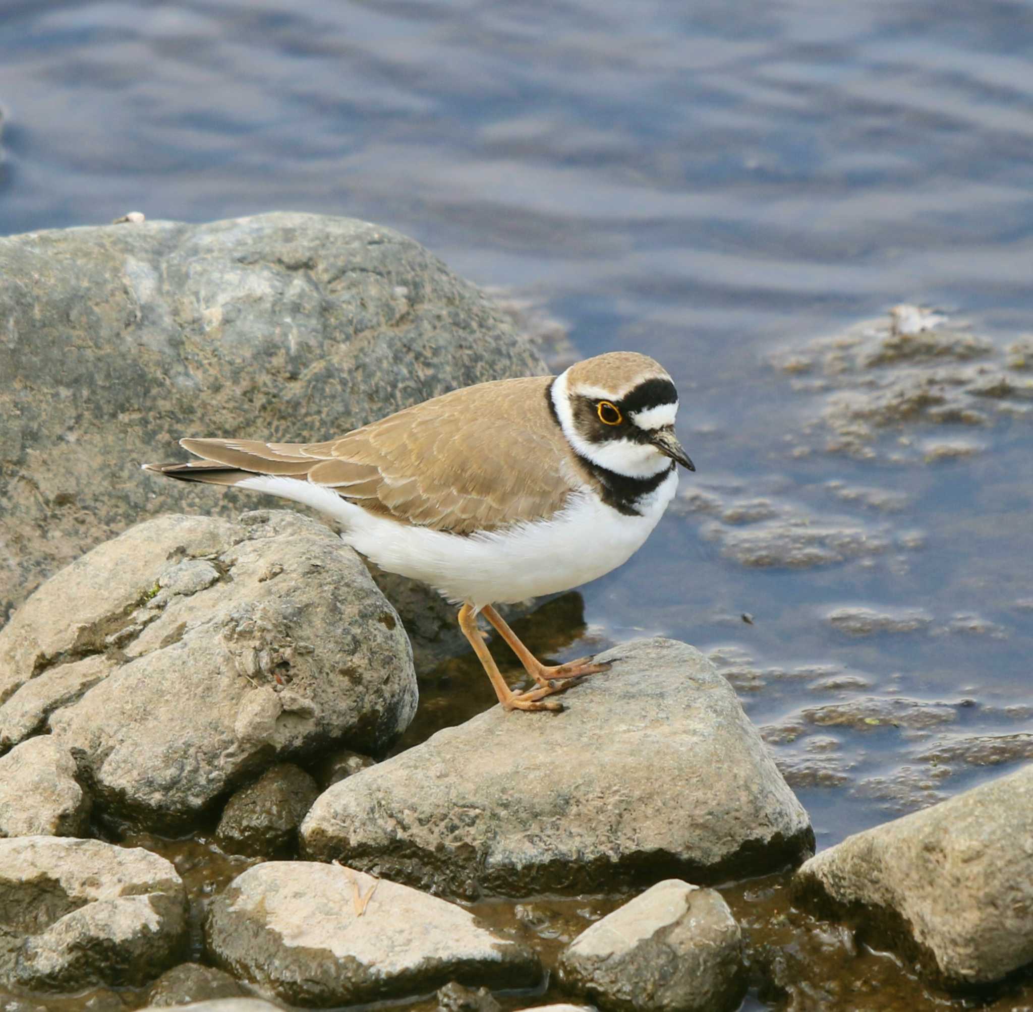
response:
[(142, 518), (261, 505), (142, 476), (180, 436), (328, 439), (545, 372), (418, 244), (320, 215), (0, 238), (0, 625)]

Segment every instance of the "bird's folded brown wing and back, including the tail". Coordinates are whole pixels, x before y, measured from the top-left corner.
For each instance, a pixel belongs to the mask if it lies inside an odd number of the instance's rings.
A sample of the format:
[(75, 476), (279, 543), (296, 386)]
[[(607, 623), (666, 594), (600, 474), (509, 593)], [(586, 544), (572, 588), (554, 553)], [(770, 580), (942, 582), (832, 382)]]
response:
[(572, 491), (570, 449), (545, 410), (550, 382), (466, 387), (325, 443), (184, 439), (202, 460), (161, 473), (217, 484), (241, 472), (307, 479), (407, 524), (492, 531), (550, 516)]

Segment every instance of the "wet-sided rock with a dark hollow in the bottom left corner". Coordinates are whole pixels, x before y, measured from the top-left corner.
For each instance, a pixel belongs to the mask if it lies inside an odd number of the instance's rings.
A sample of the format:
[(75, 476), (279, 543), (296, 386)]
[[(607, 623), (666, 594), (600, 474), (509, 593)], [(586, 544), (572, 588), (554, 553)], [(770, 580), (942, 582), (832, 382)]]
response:
[(142, 848), (0, 840), (0, 984), (144, 984), (180, 958), (186, 909), (176, 869)]

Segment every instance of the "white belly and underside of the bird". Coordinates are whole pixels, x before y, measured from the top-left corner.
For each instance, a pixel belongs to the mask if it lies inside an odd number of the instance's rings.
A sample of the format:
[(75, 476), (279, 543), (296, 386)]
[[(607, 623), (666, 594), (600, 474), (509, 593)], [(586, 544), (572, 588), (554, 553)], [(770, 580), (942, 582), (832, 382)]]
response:
[(294, 478), (248, 478), (241, 486), (315, 506), (340, 520), (344, 541), (381, 569), (430, 583), (449, 600), (482, 606), (566, 591), (627, 562), (674, 498), (678, 475), (671, 470), (639, 501), (640, 516), (625, 516), (586, 492), (551, 520), (468, 536), (376, 516)]

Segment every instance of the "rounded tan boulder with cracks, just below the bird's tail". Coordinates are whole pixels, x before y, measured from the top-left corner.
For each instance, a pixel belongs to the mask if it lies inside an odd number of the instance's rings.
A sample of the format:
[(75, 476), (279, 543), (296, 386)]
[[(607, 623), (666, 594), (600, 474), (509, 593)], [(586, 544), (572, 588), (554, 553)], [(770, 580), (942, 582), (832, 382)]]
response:
[(0, 630), (0, 720), (98, 652), (106, 677), (51, 727), (105, 817), (159, 831), (277, 760), (383, 749), (416, 706), (395, 610), (292, 511), (149, 520), (52, 577)]

